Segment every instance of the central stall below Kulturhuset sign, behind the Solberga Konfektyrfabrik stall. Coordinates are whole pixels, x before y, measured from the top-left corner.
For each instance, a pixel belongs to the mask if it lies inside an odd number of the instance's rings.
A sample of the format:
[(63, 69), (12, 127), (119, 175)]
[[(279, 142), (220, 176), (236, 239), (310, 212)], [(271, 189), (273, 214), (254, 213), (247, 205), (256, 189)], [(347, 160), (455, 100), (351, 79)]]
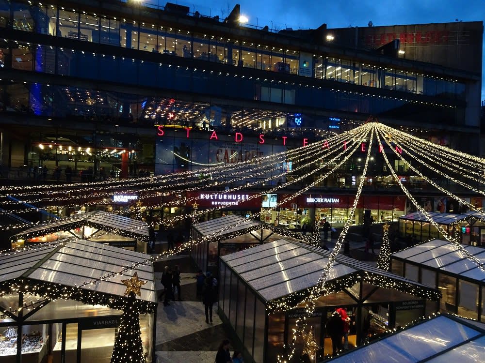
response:
[[(268, 229), (271, 228), (271, 229)], [(219, 257), (279, 240), (275, 228), (257, 220), (245, 220), (235, 214), (226, 215), (192, 226), (191, 256), (203, 271), (218, 271)], [(295, 235), (294, 237), (301, 237)], [(294, 241), (297, 241), (294, 239)]]

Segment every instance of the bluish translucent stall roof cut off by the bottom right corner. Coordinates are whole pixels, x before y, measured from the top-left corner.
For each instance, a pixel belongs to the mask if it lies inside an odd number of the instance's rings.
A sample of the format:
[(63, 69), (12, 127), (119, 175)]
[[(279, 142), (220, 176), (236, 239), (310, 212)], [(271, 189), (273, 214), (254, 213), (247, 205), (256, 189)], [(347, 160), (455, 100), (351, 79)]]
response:
[(332, 362), (476, 363), (484, 361), (484, 347), (483, 327), (443, 314), (356, 348)]

